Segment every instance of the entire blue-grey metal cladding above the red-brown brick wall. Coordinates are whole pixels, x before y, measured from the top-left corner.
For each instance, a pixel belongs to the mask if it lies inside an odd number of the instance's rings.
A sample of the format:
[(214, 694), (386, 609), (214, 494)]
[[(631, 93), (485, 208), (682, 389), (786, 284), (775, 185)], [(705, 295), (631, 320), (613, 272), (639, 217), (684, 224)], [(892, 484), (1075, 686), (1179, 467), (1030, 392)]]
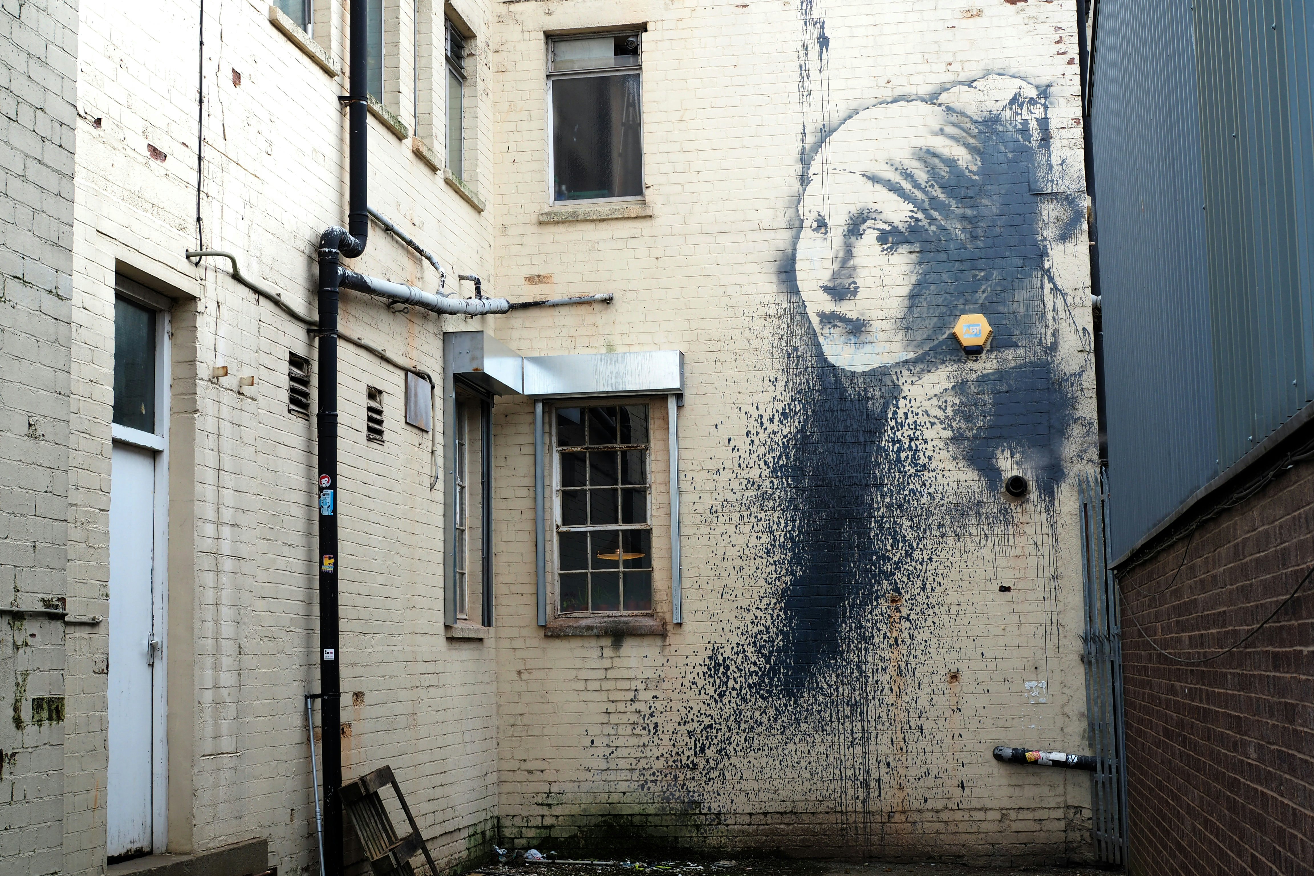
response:
[(1314, 399), (1310, 7), (1100, 4), (1114, 556)]

